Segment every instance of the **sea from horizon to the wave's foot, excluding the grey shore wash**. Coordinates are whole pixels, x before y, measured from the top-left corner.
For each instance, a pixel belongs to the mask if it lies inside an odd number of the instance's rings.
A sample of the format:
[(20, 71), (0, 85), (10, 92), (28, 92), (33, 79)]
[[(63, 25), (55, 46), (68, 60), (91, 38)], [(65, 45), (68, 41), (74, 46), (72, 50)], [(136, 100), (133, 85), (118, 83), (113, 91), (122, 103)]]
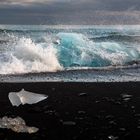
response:
[(139, 65), (140, 26), (0, 25), (0, 74)]

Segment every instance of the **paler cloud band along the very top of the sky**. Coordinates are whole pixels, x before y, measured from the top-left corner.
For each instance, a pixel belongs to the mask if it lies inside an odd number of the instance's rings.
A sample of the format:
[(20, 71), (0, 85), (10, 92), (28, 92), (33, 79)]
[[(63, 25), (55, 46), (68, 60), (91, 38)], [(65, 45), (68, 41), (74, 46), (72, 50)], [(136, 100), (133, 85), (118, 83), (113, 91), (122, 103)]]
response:
[[(90, 8), (92, 10), (110, 10), (110, 11), (122, 11), (131, 9), (140, 10), (140, 1), (139, 0), (0, 0), (0, 7), (4, 6), (45, 6), (47, 4), (62, 4), (63, 6), (72, 7), (79, 9)], [(40, 5), (38, 5), (40, 4)]]

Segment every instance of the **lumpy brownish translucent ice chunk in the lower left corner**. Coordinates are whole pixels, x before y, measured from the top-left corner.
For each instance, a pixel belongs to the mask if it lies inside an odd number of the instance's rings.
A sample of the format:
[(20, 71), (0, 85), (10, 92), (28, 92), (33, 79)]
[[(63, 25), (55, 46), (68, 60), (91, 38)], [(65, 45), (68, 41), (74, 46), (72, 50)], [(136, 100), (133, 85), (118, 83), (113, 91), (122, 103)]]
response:
[(26, 126), (25, 121), (21, 117), (8, 118), (6, 116), (0, 118), (0, 128), (11, 129), (12, 131), (17, 133), (29, 134), (36, 133), (39, 130), (36, 127)]

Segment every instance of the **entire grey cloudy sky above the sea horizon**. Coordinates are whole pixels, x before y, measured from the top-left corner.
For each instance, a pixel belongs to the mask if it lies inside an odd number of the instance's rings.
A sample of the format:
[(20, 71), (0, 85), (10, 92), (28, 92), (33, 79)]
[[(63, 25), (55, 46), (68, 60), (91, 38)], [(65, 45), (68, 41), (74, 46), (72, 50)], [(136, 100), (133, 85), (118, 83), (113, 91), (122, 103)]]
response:
[(140, 24), (140, 0), (0, 0), (0, 24)]

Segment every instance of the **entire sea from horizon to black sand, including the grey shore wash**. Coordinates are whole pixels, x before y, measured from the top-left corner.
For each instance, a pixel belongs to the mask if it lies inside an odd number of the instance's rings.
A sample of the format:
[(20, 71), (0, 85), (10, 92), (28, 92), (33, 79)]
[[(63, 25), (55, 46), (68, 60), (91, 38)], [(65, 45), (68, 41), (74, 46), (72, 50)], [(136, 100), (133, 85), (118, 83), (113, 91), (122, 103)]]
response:
[(139, 66), (139, 25), (0, 25), (0, 81), (140, 81)]

